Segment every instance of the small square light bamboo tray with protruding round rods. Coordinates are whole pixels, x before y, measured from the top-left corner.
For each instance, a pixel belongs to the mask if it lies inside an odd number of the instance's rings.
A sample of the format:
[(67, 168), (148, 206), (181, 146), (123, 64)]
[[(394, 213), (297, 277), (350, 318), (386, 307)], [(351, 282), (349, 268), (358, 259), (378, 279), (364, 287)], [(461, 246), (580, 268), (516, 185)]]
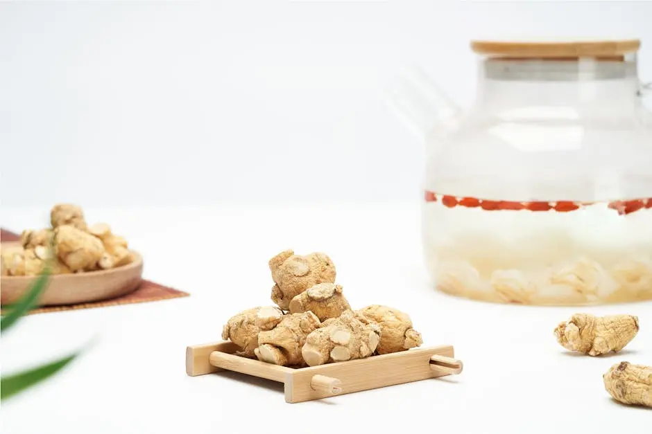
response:
[(191, 377), (221, 370), (241, 372), (284, 383), (289, 403), (322, 399), (396, 384), (411, 383), (462, 372), (452, 345), (413, 348), (366, 359), (327, 363), (309, 368), (287, 368), (233, 354), (229, 341), (193, 345), (186, 349), (186, 373)]

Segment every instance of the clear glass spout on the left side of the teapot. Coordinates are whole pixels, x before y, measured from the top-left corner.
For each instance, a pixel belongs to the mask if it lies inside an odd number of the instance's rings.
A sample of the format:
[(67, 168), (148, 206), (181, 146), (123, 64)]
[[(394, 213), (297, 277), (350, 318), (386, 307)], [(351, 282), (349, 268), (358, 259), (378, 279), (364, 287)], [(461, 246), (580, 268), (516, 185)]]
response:
[(386, 89), (386, 102), (420, 138), (451, 127), (460, 112), (449, 96), (418, 66), (411, 66)]

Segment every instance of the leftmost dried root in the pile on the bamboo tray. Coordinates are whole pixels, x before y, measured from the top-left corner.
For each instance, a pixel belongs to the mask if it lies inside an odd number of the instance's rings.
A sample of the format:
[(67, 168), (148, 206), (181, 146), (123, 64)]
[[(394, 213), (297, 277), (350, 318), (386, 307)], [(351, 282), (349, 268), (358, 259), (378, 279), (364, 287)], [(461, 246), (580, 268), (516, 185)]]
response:
[(244, 356), (254, 356), (261, 329), (271, 329), (282, 319), (283, 312), (273, 306), (259, 306), (241, 311), (222, 327), (222, 338), (241, 348)]

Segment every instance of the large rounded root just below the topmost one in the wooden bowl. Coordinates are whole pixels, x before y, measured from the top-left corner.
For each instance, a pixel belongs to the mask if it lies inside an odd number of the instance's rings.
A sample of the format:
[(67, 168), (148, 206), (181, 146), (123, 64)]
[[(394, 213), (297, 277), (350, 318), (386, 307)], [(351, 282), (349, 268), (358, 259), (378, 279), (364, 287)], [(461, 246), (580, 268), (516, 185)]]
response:
[(96, 269), (105, 253), (100, 239), (69, 225), (55, 229), (55, 248), (61, 262), (75, 272)]

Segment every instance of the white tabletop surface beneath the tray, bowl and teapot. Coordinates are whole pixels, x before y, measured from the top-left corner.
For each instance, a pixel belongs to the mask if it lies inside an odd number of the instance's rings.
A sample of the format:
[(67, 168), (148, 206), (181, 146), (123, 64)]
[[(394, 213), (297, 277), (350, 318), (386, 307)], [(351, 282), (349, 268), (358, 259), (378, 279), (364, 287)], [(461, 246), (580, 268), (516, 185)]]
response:
[[(86, 211), (143, 253), (145, 278), (191, 296), (38, 314), (3, 334), (3, 374), (92, 346), (3, 403), (2, 433), (651, 432), (652, 410), (612, 401), (602, 374), (624, 360), (652, 365), (652, 303), (583, 309), (636, 314), (642, 329), (617, 355), (570, 354), (552, 331), (577, 309), (491, 305), (431, 289), (418, 206)], [(47, 210), (3, 209), (0, 224), (46, 222)], [(328, 253), (354, 307), (408, 312), (424, 345), (454, 345), (462, 374), (300, 404), (285, 403), (280, 383), (187, 377), (187, 345), (218, 341), (232, 314), (271, 303), (267, 260), (284, 248)]]

